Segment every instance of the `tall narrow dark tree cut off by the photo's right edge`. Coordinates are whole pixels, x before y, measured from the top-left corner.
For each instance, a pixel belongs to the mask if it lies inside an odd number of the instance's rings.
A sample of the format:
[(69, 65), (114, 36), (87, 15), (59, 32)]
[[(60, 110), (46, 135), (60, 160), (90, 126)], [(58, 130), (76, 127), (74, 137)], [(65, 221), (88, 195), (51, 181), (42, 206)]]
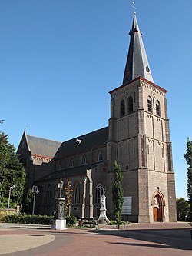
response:
[(187, 138), (187, 151), (184, 154), (184, 158), (187, 161), (187, 197), (190, 203), (190, 221), (192, 221), (192, 141)]

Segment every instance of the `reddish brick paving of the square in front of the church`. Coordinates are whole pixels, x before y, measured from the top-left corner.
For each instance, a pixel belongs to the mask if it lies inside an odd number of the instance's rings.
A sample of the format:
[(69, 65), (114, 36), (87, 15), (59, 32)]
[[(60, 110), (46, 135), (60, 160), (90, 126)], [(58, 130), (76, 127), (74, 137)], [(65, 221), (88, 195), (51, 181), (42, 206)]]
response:
[[(110, 229), (109, 229), (110, 228)], [(0, 228), (1, 236), (55, 236), (47, 244), (27, 251), (2, 254), (7, 256), (187, 256), (192, 255), (190, 225), (186, 223), (132, 224), (126, 229), (105, 227), (99, 230), (68, 228), (65, 231), (51, 229)], [(14, 237), (15, 238), (15, 237)], [(32, 242), (31, 242), (32, 243)], [(1, 243), (2, 246), (5, 246)], [(14, 244), (13, 244), (14, 246)], [(1, 252), (0, 248), (0, 252)]]

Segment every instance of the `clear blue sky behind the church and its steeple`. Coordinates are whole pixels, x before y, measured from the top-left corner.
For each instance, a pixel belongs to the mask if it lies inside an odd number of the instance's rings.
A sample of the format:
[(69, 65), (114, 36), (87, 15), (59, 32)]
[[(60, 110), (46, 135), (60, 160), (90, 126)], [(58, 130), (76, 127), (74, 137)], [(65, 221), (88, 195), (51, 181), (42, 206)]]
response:
[[(177, 198), (192, 139), (191, 0), (137, 0), (154, 83), (167, 89)], [(0, 131), (65, 141), (108, 125), (133, 19), (127, 0), (0, 0)]]

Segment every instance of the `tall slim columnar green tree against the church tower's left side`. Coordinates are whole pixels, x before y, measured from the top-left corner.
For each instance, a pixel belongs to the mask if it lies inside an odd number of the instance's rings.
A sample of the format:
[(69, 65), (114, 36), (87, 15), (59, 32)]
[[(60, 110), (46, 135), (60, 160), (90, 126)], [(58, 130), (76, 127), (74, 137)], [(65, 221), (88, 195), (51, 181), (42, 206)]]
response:
[(112, 188), (112, 199), (114, 203), (114, 220), (119, 224), (121, 223), (121, 214), (123, 208), (123, 188), (121, 185), (121, 181), (123, 180), (123, 175), (121, 171), (120, 165), (118, 165), (117, 161), (114, 161), (114, 185)]

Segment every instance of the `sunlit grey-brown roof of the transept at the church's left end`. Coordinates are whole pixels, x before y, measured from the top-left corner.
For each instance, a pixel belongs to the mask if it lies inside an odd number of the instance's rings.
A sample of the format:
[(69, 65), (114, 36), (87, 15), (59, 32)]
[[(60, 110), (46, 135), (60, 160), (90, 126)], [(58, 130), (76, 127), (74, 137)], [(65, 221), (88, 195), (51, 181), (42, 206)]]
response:
[(61, 146), (61, 142), (51, 141), (45, 138), (26, 135), (26, 139), (28, 142), (29, 151), (31, 151), (31, 155), (53, 158), (55, 153), (58, 151), (58, 148)]

